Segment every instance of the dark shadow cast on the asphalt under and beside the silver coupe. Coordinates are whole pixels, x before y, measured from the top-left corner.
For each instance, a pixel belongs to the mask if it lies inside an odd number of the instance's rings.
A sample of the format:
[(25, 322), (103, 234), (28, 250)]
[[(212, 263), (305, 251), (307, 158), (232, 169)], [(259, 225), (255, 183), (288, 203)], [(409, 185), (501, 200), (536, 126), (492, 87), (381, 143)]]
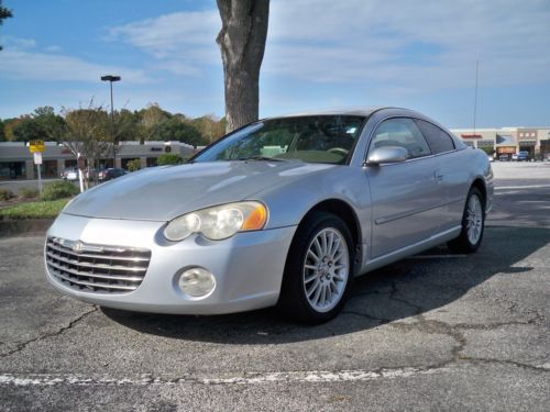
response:
[(549, 242), (549, 229), (488, 227), (474, 255), (450, 255), (438, 247), (356, 279), (344, 311), (318, 326), (287, 322), (273, 309), (218, 316), (101, 310), (132, 330), (177, 339), (241, 345), (320, 339), (438, 309), (496, 274), (521, 276), (532, 268), (517, 264)]

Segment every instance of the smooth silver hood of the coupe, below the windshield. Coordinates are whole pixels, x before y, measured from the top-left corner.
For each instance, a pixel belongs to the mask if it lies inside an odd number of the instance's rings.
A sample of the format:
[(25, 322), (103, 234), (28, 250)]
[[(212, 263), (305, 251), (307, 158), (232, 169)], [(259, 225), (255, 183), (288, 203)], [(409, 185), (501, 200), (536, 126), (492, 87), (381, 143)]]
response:
[(250, 199), (258, 191), (332, 167), (336, 166), (256, 160), (155, 167), (84, 192), (63, 213), (169, 221), (198, 209)]

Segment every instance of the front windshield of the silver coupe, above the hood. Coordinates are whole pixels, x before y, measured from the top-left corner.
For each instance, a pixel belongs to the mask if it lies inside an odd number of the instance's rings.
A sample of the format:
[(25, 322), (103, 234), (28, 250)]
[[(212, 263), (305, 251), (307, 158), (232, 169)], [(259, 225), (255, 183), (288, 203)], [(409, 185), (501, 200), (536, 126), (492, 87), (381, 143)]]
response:
[(193, 162), (299, 160), (343, 165), (364, 121), (358, 115), (263, 120), (220, 140)]

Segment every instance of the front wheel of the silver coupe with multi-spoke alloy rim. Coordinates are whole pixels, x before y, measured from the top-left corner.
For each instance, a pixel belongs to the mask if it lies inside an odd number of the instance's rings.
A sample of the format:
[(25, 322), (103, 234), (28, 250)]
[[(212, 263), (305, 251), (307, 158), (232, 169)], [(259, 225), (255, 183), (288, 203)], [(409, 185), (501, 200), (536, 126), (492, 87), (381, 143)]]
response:
[(306, 324), (333, 319), (350, 293), (353, 263), (353, 241), (345, 223), (332, 213), (311, 213), (298, 226), (288, 252), (279, 312)]

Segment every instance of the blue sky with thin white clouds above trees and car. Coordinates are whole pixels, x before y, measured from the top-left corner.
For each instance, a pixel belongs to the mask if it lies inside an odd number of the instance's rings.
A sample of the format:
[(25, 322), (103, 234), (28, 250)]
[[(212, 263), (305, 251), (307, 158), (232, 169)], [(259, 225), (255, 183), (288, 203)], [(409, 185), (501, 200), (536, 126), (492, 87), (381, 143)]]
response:
[[(4, 0), (0, 119), (158, 103), (223, 115), (215, 0)], [(260, 115), (393, 105), (449, 127), (550, 125), (550, 0), (272, 0)]]

